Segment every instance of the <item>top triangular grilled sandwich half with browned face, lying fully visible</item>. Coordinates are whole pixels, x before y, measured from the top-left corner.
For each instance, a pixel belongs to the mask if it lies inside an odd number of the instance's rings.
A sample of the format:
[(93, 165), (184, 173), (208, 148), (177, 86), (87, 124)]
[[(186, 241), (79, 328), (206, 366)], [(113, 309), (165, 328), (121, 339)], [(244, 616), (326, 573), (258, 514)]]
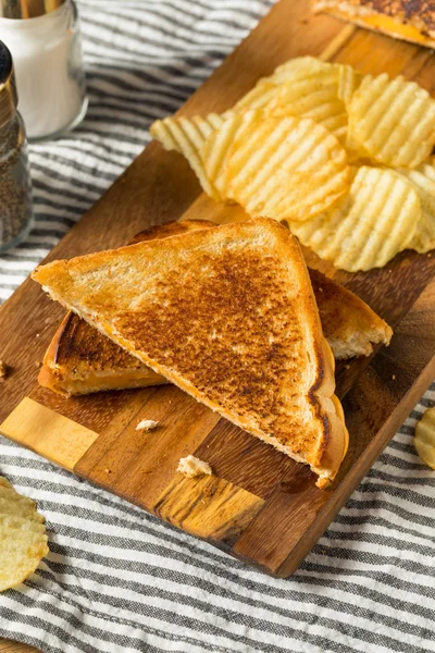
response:
[(334, 358), (285, 226), (257, 219), (192, 231), (54, 261), (33, 276), (157, 373), (310, 465), (319, 486), (336, 476), (347, 431)]

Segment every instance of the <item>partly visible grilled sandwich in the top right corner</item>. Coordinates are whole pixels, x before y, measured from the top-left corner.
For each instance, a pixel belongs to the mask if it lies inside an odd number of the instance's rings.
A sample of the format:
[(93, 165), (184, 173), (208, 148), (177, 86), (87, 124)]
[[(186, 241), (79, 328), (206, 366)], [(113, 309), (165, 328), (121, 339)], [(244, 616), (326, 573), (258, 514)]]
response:
[(395, 38), (435, 47), (435, 5), (426, 0), (313, 0), (314, 11)]

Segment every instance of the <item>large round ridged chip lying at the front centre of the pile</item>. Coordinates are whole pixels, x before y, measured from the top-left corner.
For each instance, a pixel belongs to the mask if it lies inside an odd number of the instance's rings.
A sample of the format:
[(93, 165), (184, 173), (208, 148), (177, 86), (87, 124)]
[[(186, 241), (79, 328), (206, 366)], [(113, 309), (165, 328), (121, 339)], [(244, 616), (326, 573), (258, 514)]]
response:
[(253, 218), (308, 220), (349, 187), (345, 150), (310, 119), (247, 111), (225, 121), (212, 135), (215, 141), (221, 134), (224, 147), (213, 168), (206, 161), (207, 172)]

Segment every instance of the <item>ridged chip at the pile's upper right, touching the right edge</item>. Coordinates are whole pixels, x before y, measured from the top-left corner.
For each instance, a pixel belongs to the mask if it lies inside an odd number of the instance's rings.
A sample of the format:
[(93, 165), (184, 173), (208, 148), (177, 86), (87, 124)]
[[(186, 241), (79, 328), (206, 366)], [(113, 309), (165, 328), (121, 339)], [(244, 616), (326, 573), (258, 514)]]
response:
[(366, 75), (348, 111), (349, 137), (378, 163), (417, 168), (435, 145), (435, 101), (402, 76)]

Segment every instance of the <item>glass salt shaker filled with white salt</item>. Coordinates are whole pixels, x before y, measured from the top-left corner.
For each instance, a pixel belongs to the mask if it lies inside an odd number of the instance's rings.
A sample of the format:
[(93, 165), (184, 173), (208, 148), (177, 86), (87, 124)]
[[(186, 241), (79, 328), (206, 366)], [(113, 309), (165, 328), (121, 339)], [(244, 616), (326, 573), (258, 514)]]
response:
[(12, 52), (29, 140), (73, 128), (87, 109), (73, 0), (0, 0), (0, 38)]

